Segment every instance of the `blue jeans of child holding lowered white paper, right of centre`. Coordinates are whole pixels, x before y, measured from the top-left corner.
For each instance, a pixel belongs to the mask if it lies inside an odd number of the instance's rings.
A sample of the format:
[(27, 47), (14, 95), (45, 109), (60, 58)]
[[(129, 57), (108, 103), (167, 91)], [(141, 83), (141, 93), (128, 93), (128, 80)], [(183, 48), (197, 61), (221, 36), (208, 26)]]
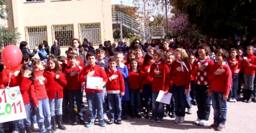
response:
[(155, 101), (158, 96), (157, 91), (152, 91), (152, 118), (163, 119), (164, 117), (164, 104), (158, 101)]

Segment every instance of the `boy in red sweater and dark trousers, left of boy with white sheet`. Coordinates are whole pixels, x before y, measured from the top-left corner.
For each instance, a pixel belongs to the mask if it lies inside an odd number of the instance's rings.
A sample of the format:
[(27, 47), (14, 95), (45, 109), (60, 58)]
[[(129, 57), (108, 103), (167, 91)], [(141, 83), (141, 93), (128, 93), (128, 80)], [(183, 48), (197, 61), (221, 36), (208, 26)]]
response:
[(78, 59), (78, 55), (75, 53), (69, 53), (68, 54), (68, 61), (69, 61), (69, 66), (65, 68), (64, 73), (66, 75), (66, 81), (67, 81), (67, 94), (68, 94), (68, 102), (69, 102), (69, 113), (71, 117), (71, 124), (76, 125), (77, 123), (75, 122), (75, 114), (73, 111), (74, 108), (74, 99), (76, 101), (76, 105), (78, 108), (78, 114), (79, 114), (79, 120), (80, 124), (85, 124), (84, 121), (84, 114), (82, 113), (83, 108), (82, 108), (82, 83), (79, 80), (79, 73), (80, 67), (79, 65), (76, 65)]

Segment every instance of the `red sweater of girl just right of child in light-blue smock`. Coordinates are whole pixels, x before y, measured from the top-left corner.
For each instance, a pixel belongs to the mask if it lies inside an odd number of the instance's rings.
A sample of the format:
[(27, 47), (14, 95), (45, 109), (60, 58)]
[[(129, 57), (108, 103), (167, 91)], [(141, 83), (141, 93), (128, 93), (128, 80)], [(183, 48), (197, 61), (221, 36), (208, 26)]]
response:
[(129, 78), (127, 79), (129, 84), (129, 89), (140, 89), (141, 88), (141, 79), (139, 75), (139, 70), (137, 72), (129, 69)]

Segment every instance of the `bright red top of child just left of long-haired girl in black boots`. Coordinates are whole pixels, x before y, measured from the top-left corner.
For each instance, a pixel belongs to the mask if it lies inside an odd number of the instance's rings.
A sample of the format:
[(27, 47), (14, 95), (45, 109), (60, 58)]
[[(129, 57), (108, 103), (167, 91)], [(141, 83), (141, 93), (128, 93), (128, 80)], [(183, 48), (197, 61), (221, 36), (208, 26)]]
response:
[(45, 78), (45, 81), (42, 81), (38, 78), (39, 76), (43, 76), (42, 71), (35, 71), (35, 96), (38, 100), (41, 100), (48, 98), (45, 90), (45, 83), (47, 83), (47, 79)]

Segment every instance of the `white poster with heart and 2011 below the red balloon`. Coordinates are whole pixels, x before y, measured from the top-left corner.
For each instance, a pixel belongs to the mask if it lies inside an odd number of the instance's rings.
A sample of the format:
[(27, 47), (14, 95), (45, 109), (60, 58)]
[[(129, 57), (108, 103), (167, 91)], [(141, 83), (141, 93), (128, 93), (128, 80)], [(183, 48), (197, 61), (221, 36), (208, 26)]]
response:
[(26, 118), (19, 86), (0, 89), (0, 123)]

